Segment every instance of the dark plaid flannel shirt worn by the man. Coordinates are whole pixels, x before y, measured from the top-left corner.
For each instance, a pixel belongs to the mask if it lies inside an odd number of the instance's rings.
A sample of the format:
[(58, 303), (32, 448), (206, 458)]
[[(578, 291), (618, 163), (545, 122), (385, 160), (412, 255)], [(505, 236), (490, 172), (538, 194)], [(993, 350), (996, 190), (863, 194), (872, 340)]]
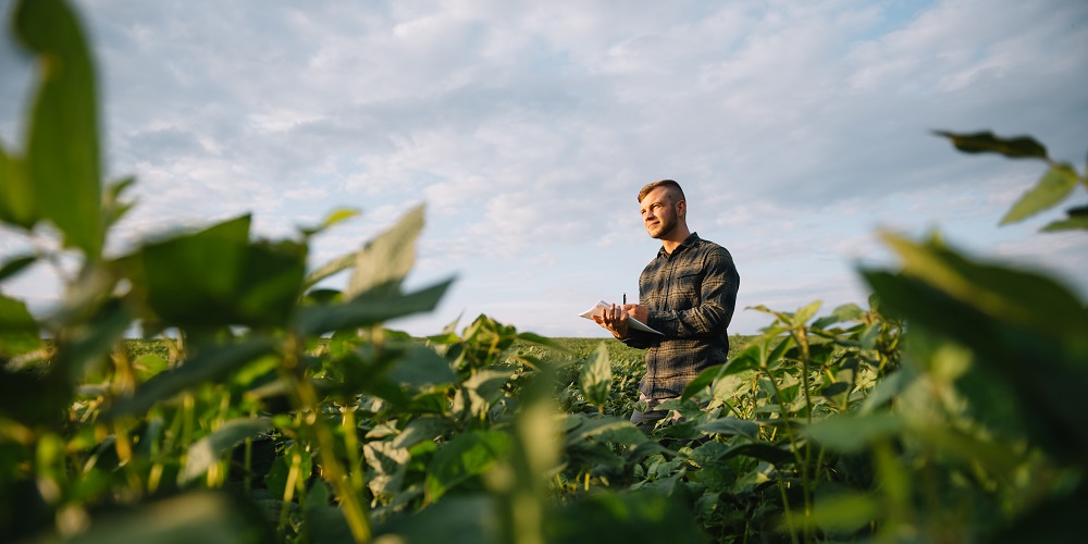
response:
[(639, 391), (655, 399), (679, 397), (704, 369), (726, 362), (727, 327), (740, 274), (729, 251), (692, 233), (672, 254), (663, 247), (639, 277), (646, 323), (663, 335), (631, 330), (622, 342), (646, 349)]

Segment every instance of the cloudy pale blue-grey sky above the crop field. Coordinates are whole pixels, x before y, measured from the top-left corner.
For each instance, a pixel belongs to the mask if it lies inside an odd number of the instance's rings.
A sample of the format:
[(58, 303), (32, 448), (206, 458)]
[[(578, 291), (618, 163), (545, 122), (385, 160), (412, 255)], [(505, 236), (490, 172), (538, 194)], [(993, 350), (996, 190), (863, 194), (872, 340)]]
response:
[[(1083, 172), (1081, 0), (75, 4), (108, 175), (137, 176), (113, 251), (247, 211), (288, 237), (360, 209), (316, 243), (317, 267), (425, 203), (409, 285), (457, 282), (433, 314), (390, 326), (486, 313), (601, 336), (577, 314), (636, 298), (659, 247), (636, 194), (667, 177), (740, 270), (731, 332), (769, 322), (749, 306), (864, 304), (857, 267), (889, 262), (878, 228), (937, 228), (1088, 298), (1088, 236), (1037, 233), (1056, 212), (997, 226), (1043, 165), (930, 133), (1030, 134)], [(17, 148), (34, 71), (7, 34), (0, 74), (0, 139)], [(0, 236), (4, 257), (21, 247)], [(3, 287), (45, 311), (55, 283), (35, 269)]]

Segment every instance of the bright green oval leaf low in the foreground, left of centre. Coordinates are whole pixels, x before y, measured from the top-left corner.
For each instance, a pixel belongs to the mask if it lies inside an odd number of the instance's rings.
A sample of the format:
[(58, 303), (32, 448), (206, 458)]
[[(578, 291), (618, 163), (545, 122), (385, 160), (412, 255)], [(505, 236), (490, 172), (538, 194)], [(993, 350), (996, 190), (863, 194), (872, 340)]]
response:
[(506, 458), (514, 438), (497, 431), (475, 431), (455, 436), (443, 445), (426, 472), (429, 500), (437, 500), (457, 485), (486, 472)]

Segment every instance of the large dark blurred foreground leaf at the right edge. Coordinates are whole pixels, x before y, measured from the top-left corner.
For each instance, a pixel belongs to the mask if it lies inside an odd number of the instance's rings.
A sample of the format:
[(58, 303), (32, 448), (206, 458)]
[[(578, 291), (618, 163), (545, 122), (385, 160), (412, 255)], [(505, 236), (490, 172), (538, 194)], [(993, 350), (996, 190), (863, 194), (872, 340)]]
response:
[[(1048, 292), (1056, 284), (1047, 279), (977, 267), (959, 257), (945, 261), (938, 251), (914, 249), (928, 254), (918, 262), (934, 263), (918, 277), (907, 275), (918, 263), (903, 274), (864, 272), (886, 309), (906, 318), (911, 327), (974, 351), (976, 371), (1013, 392), (1006, 401), (1017, 407), (1027, 433), (1055, 457), (1084, 463), (1088, 450), (1088, 420), (1080, 417), (1080, 397), (1088, 390), (1084, 307), (1072, 296), (1062, 300), (1060, 290)], [(943, 267), (945, 262), (956, 267)], [(955, 270), (969, 273), (949, 273)], [(1019, 281), (1000, 288), (997, 280)], [(988, 283), (991, 288), (982, 288)], [(1027, 293), (1033, 286), (1038, 287), (1035, 300)], [(1058, 320), (1060, 316), (1064, 320)], [(976, 403), (989, 401), (985, 392), (963, 391), (979, 395)]]

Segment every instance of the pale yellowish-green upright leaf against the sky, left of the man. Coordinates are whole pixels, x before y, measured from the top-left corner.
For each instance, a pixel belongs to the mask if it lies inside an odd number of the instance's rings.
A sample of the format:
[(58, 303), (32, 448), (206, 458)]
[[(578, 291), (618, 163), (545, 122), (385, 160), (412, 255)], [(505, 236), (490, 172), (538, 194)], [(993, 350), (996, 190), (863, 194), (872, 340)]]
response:
[(345, 297), (378, 288), (399, 290), (400, 282), (416, 262), (416, 238), (423, 230), (423, 207), (419, 206), (388, 231), (380, 234), (356, 254), (355, 272)]

